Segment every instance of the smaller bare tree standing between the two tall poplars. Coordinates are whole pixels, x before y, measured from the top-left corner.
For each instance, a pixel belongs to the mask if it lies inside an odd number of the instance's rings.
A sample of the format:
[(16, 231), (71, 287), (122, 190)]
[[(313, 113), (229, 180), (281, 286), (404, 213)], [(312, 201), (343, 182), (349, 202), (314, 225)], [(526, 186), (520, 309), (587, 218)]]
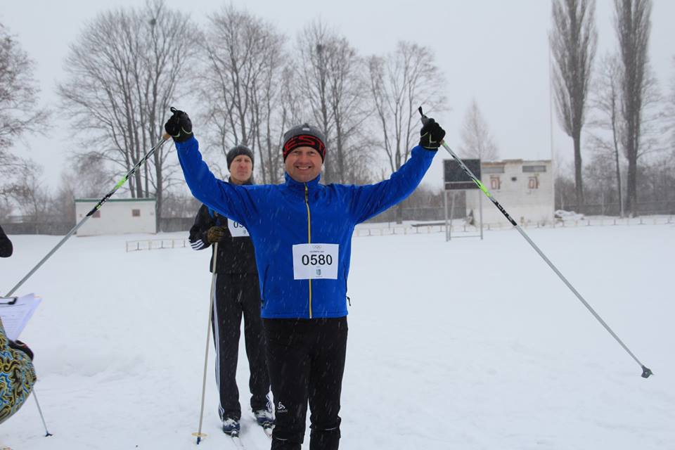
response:
[(603, 57), (600, 72), (593, 83), (593, 95), (590, 100), (591, 107), (597, 115), (591, 119), (589, 125), (601, 132), (601, 134), (590, 134), (591, 147), (595, 148), (598, 153), (611, 155), (615, 162), (619, 215), (624, 217), (619, 163), (624, 129), (623, 122), (620, 120), (622, 111), (621, 68), (617, 55), (608, 54)]

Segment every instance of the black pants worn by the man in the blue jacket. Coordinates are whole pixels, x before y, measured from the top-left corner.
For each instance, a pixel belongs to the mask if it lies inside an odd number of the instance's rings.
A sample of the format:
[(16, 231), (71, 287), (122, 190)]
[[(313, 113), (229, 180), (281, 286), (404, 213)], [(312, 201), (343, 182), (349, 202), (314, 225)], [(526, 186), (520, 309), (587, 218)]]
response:
[(263, 323), (276, 408), (272, 450), (300, 450), (308, 401), (309, 449), (338, 449), (347, 318), (263, 319)]

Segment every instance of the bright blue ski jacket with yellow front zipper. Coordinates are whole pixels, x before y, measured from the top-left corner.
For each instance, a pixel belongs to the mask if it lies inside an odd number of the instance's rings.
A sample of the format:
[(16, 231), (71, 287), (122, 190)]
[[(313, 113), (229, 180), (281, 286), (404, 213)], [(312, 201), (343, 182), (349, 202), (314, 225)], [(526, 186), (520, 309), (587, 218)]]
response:
[[(319, 184), (320, 175), (300, 183), (288, 174), (284, 184), (236, 185), (216, 179), (203, 162), (194, 137), (176, 142), (176, 149), (195, 198), (248, 229), (255, 247), (261, 316), (265, 319), (347, 316), (354, 226), (410, 195), (436, 154), (435, 150), (416, 146), (410, 160), (390, 179), (366, 186), (324, 186)], [(310, 261), (308, 255), (296, 255), (294, 259), (294, 245), (298, 244), (337, 244), (337, 261), (330, 257), (330, 263), (337, 264), (336, 278), (296, 279), (294, 264)], [(324, 256), (323, 262), (328, 258)], [(319, 274), (321, 267), (316, 268)]]

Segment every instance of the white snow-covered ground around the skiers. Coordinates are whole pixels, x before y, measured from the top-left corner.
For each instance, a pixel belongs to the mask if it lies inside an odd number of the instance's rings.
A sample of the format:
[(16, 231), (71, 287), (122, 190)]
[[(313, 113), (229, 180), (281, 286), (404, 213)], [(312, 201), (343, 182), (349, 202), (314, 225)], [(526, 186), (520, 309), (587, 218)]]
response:
[[(442, 233), (354, 238), (342, 449), (675, 449), (675, 225), (527, 233), (655, 375), (641, 378), (516, 231), (450, 243)], [(0, 425), (0, 443), (233, 448), (219, 432), (211, 364), (209, 436), (200, 446), (191, 436), (209, 253), (125, 252), (127, 240), (147, 237), (71, 238), (20, 289), (44, 298), (22, 339), (36, 353), (53, 437), (43, 436), (30, 399)], [(0, 292), (59, 239), (11, 238), (15, 255), (0, 260)], [(247, 379), (243, 362), (243, 392)], [(244, 416), (247, 449), (269, 448)]]

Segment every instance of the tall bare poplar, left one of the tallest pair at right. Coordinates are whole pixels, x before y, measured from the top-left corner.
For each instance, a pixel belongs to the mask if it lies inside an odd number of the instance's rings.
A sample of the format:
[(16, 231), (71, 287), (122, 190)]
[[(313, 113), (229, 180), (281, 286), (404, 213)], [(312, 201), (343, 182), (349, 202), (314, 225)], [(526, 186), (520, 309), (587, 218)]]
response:
[(555, 65), (553, 86), (558, 119), (574, 141), (574, 182), (577, 205), (584, 205), (581, 179), (581, 128), (598, 34), (595, 0), (553, 0), (553, 32), (550, 44)]

